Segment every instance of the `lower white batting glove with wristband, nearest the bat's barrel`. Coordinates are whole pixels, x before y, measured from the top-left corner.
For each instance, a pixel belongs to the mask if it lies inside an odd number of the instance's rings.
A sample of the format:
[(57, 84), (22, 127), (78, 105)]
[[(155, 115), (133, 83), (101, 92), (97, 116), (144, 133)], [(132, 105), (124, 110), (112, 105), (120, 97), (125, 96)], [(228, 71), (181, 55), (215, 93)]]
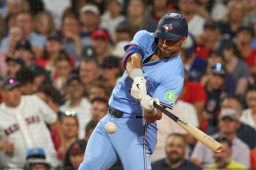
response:
[(156, 108), (154, 107), (153, 103), (160, 105), (159, 99), (152, 98), (149, 95), (145, 95), (142, 97), (140, 101), (140, 106), (143, 107), (143, 114), (146, 116), (155, 116), (156, 115)]

